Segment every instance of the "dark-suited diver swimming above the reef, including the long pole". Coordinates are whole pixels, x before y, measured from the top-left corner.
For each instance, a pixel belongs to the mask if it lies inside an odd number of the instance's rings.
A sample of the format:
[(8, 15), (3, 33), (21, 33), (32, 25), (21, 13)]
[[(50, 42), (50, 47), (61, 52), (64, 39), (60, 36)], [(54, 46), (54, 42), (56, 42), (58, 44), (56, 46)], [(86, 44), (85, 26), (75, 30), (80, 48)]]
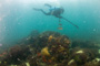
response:
[[(37, 8), (33, 8), (33, 10), (36, 10), (36, 11), (41, 11), (41, 12), (42, 12), (43, 14), (46, 14), (46, 15), (53, 15), (53, 16), (56, 16), (56, 18), (59, 18), (59, 21), (60, 21), (60, 19), (63, 19), (63, 20), (66, 20), (67, 22), (69, 22), (69, 23), (71, 23), (72, 25), (74, 25), (77, 29), (79, 29), (78, 25), (73, 24), (73, 23), (70, 22), (68, 19), (61, 16), (61, 14), (64, 12), (64, 10), (63, 10), (62, 7), (60, 7), (60, 8), (56, 8), (56, 7), (52, 8), (52, 7), (51, 7), (50, 4), (48, 4), (48, 3), (46, 3), (44, 6), (50, 8), (50, 9), (49, 9), (49, 12), (44, 12), (42, 9), (37, 9)], [(61, 24), (60, 24), (60, 25), (61, 25)]]

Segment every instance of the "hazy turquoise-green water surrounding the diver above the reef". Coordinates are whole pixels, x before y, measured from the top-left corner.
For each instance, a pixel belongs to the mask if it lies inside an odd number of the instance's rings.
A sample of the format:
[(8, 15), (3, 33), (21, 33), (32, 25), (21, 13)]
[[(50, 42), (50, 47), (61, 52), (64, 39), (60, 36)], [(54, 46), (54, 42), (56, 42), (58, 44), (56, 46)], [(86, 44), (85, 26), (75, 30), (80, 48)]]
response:
[[(62, 16), (79, 29), (61, 20), (62, 30), (58, 30), (58, 18), (32, 10), (41, 8), (48, 12), (44, 3), (63, 7)], [(57, 31), (71, 40), (100, 41), (100, 0), (0, 0), (0, 44), (11, 45), (33, 30)]]

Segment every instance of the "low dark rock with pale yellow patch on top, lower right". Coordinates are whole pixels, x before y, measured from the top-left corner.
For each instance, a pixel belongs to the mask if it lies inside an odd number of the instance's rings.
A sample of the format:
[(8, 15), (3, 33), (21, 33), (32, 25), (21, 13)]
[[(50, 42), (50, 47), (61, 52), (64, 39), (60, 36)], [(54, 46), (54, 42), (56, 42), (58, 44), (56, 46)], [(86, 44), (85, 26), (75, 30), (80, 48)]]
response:
[(87, 62), (90, 62), (98, 57), (98, 50), (97, 48), (79, 48), (76, 47), (71, 51), (71, 58), (74, 59), (74, 62), (78, 65), (83, 65)]

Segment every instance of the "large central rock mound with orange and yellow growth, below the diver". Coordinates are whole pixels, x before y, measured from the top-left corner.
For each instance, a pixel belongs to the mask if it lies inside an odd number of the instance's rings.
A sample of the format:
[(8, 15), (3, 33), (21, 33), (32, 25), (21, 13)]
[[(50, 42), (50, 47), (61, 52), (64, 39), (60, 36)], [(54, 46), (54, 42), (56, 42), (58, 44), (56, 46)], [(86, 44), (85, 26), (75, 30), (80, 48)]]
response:
[(37, 66), (39, 62), (43, 64), (62, 63), (69, 56), (69, 45), (68, 36), (57, 32), (43, 32), (39, 34), (33, 44), (30, 44), (36, 50), (37, 56), (29, 59), (29, 63)]

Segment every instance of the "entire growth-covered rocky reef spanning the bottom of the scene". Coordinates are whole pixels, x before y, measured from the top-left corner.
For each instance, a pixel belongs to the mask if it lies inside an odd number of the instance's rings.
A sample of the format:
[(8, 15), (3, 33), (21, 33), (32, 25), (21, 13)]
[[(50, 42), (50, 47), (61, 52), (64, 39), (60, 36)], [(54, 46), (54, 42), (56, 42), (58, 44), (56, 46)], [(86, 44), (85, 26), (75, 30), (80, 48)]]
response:
[(0, 56), (0, 66), (100, 66), (100, 50), (91, 41), (33, 31)]

